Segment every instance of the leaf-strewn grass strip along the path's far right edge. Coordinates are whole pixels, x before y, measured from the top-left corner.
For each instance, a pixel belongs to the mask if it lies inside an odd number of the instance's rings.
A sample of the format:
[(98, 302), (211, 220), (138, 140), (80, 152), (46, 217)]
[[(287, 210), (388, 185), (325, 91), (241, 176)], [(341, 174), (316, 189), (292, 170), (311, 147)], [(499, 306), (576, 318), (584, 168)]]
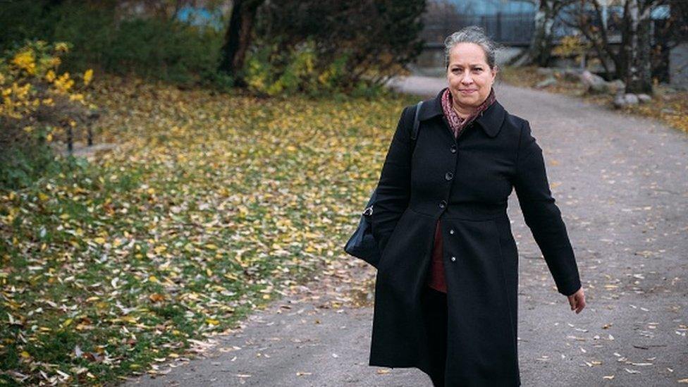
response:
[[(501, 76), (504, 82), (520, 87), (535, 87), (538, 82), (548, 78), (548, 75), (537, 73), (537, 68), (532, 66), (504, 68)], [(559, 73), (555, 73), (555, 78), (557, 78), (557, 83), (546, 87), (544, 90), (567, 94), (572, 97), (582, 97), (588, 102), (615, 109), (613, 95), (586, 94), (581, 82), (566, 80)], [(627, 106), (621, 110), (638, 116), (656, 118), (673, 128), (688, 133), (688, 91), (686, 90), (673, 90), (670, 87), (656, 85), (651, 104)]]

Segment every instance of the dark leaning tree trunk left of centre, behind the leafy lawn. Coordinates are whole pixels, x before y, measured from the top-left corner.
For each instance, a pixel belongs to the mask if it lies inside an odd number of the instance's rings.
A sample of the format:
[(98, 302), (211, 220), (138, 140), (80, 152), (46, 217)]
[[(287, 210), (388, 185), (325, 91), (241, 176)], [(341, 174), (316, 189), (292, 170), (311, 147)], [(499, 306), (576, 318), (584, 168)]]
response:
[(246, 51), (251, 44), (253, 21), (258, 7), (264, 0), (234, 0), (232, 15), (229, 19), (225, 42), (221, 49), (219, 70), (234, 77), (235, 85), (246, 85), (241, 70), (244, 66)]

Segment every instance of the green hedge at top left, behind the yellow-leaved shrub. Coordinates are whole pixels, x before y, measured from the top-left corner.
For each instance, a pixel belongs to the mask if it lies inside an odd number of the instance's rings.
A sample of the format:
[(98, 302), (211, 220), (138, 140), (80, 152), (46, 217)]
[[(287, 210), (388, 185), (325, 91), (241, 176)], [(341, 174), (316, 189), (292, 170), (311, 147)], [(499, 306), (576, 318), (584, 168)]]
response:
[(0, 50), (15, 49), (24, 39), (64, 41), (73, 44), (62, 67), (71, 73), (95, 68), (182, 84), (228, 84), (216, 72), (223, 35), (214, 28), (120, 15), (113, 1), (12, 1), (0, 8), (0, 22), (11, 25), (7, 35), (0, 34)]

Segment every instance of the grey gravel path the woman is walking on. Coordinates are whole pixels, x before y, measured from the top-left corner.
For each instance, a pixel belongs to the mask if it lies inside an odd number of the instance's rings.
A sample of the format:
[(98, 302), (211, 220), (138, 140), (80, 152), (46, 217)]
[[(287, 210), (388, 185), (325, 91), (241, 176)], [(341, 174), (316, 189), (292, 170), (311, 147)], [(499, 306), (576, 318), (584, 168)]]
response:
[[(444, 85), (412, 77), (393, 87), (434, 96)], [(557, 94), (496, 91), (544, 150), (588, 302), (577, 315), (556, 293), (512, 194), (522, 385), (679, 385), (688, 379), (688, 135)], [(199, 359), (127, 385), (431, 386), (418, 369), (367, 365), (371, 295), (356, 289), (372, 278), (349, 260), (199, 345)]]

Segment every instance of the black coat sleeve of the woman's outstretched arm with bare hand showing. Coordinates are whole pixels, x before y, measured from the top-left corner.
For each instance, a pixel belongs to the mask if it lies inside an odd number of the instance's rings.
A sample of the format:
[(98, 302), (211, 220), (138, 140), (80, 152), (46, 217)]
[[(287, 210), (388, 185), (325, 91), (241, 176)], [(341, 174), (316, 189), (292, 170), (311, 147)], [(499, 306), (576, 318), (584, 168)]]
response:
[(559, 207), (552, 197), (542, 149), (528, 121), (521, 128), (514, 188), (524, 220), (542, 252), (557, 290), (572, 295), (581, 287), (578, 266)]

